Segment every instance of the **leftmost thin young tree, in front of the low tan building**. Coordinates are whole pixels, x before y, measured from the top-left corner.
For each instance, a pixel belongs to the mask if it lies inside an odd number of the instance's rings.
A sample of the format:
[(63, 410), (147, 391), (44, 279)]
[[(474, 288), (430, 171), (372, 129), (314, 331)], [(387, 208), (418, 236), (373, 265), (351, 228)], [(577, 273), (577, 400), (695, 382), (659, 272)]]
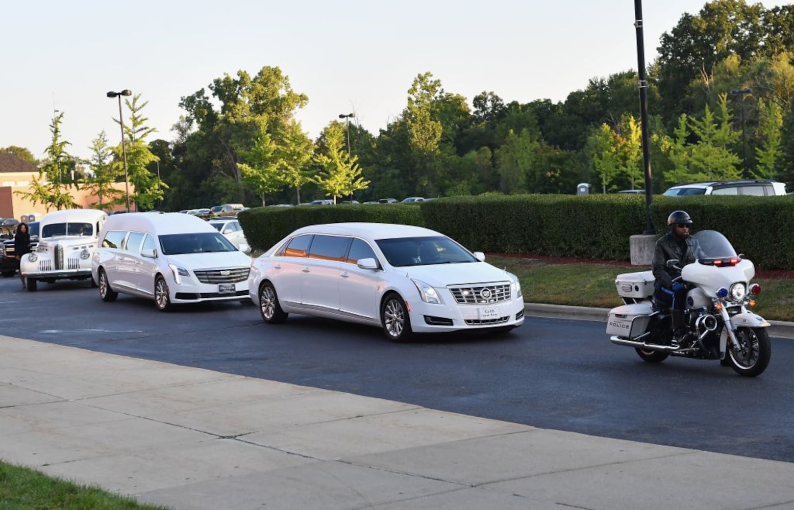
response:
[(52, 142), (46, 150), (47, 159), (41, 165), (38, 177), (33, 177), (33, 183), (30, 185), (32, 191), (14, 192), (34, 204), (41, 203), (48, 211), (51, 207), (59, 211), (78, 207), (69, 191), (71, 187), (78, 189), (78, 186), (67, 179), (67, 172), (75, 158), (66, 151), (69, 142), (60, 139), (60, 123), (63, 120), (63, 112), (52, 119), (50, 125)]

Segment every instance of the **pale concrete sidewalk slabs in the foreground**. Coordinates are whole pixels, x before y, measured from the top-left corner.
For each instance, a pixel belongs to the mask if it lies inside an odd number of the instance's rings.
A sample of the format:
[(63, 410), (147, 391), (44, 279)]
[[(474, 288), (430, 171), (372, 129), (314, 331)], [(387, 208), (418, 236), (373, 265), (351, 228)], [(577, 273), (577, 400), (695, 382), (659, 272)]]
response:
[(172, 508), (794, 508), (794, 464), (0, 336), (0, 458)]

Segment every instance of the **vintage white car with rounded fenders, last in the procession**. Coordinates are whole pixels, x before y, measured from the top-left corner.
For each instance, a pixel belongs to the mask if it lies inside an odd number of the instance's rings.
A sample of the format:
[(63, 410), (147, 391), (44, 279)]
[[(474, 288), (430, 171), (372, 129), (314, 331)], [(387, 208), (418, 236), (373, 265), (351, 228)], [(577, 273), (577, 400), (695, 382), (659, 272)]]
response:
[(49, 213), (39, 223), (36, 250), (19, 261), (28, 290), (38, 282), (91, 280), (91, 255), (97, 247), (99, 229), (107, 214), (95, 209), (67, 209)]

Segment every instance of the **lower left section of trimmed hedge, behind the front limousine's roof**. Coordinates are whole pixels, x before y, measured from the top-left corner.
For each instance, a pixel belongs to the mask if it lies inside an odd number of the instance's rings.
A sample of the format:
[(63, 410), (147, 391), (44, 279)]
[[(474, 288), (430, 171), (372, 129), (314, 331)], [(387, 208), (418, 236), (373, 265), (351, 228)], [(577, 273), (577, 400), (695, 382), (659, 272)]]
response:
[(237, 215), (245, 238), (255, 250), (267, 250), (296, 228), (322, 223), (368, 221), (422, 226), (418, 205), (305, 205), (256, 207)]

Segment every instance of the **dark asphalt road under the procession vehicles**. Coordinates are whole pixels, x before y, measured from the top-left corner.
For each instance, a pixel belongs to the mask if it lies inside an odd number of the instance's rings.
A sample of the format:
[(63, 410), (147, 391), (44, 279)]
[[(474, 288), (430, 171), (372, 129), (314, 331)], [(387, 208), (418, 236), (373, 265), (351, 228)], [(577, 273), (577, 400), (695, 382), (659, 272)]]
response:
[(603, 324), (529, 317), (505, 336), (387, 342), (376, 328), (291, 316), (262, 323), (239, 303), (160, 313), (99, 300), (86, 283), (17, 290), (0, 280), (8, 336), (409, 402), (541, 428), (794, 461), (794, 341), (773, 339), (759, 378), (717, 362), (642, 362)]

